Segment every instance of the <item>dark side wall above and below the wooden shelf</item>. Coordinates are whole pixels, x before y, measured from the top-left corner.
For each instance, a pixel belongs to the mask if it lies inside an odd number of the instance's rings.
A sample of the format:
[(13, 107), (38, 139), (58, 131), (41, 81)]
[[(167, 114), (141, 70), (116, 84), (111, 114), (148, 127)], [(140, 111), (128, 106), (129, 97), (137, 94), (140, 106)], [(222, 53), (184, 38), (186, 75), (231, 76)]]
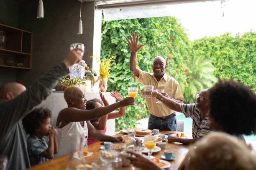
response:
[[(18, 0), (0, 0), (0, 23), (18, 27)], [(0, 67), (0, 85), (5, 82), (16, 81), (16, 70)]]

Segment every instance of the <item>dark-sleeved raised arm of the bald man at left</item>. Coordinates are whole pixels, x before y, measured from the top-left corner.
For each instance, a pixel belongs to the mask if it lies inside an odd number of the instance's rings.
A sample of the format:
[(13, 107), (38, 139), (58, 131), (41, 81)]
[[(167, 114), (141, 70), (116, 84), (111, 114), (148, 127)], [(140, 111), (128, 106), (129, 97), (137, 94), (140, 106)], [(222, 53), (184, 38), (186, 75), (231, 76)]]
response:
[(5, 138), (16, 123), (33, 110), (33, 107), (39, 105), (51, 94), (51, 89), (56, 86), (61, 77), (69, 73), (70, 66), (82, 59), (77, 50), (81, 49), (69, 51), (63, 62), (35, 80), (26, 91), (13, 99), (0, 103), (0, 140)]

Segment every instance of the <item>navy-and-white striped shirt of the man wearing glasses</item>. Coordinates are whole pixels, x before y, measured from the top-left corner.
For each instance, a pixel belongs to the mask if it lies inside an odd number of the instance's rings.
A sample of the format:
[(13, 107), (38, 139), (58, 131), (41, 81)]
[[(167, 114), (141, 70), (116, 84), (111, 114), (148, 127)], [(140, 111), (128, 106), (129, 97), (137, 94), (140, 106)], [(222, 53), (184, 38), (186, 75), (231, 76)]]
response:
[(207, 135), (210, 132), (209, 118), (205, 117), (204, 120), (200, 121), (200, 110), (196, 107), (197, 104), (181, 104), (180, 109), (184, 113), (185, 117), (191, 117), (192, 122), (192, 137), (200, 138)]

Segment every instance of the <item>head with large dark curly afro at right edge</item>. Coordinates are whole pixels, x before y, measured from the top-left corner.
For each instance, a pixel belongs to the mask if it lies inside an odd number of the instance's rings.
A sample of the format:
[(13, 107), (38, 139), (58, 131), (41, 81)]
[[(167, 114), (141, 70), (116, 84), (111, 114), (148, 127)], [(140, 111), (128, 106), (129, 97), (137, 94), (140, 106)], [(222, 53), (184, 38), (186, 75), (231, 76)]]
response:
[[(210, 129), (238, 138), (256, 134), (256, 95), (233, 80), (219, 80), (210, 90)], [(244, 138), (243, 138), (244, 139)]]

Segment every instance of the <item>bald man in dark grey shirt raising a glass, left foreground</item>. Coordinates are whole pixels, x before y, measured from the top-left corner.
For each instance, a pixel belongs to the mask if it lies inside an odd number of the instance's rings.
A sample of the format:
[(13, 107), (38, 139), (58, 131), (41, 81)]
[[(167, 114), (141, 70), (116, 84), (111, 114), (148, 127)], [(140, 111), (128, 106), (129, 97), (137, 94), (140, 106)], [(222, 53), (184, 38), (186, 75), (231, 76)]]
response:
[(0, 154), (8, 157), (7, 170), (24, 170), (30, 167), (26, 137), (21, 119), (51, 94), (68, 68), (82, 56), (74, 49), (59, 65), (35, 80), (28, 89), (20, 83), (9, 82), (0, 87)]

